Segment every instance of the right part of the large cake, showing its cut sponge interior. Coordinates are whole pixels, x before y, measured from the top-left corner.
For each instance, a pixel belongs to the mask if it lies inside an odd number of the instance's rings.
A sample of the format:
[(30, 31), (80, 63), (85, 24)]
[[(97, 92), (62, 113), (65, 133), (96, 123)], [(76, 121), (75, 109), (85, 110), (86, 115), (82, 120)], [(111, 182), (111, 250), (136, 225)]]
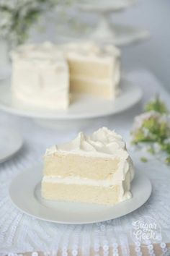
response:
[(119, 93), (120, 51), (97, 43), (68, 43), (61, 46), (68, 61), (70, 90), (113, 99)]

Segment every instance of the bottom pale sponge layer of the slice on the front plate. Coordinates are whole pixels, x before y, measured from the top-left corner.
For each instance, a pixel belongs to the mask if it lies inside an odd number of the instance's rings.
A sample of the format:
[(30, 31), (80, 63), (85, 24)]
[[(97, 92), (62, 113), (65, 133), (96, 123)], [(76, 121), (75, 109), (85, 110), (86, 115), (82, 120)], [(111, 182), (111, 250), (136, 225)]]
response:
[(88, 202), (103, 205), (114, 205), (131, 197), (130, 192), (122, 197), (122, 187), (87, 186), (79, 184), (59, 184), (42, 182), (42, 197), (47, 200)]

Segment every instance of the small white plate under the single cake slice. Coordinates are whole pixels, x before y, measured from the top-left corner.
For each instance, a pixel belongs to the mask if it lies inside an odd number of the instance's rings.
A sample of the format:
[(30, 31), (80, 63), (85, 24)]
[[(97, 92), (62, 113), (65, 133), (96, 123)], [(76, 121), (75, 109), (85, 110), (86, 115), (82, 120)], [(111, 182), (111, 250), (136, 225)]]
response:
[(41, 179), (42, 166), (32, 167), (13, 179), (9, 195), (22, 212), (56, 223), (96, 223), (125, 216), (143, 205), (151, 195), (151, 182), (142, 171), (135, 173), (131, 189), (133, 197), (113, 206), (44, 200), (40, 193)]

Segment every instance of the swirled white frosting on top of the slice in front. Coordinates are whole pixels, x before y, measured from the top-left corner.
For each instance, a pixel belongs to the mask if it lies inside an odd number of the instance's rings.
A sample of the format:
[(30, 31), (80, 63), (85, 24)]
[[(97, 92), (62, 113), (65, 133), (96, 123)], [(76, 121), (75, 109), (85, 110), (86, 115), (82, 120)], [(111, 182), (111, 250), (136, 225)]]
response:
[(76, 139), (63, 145), (54, 145), (46, 150), (45, 155), (51, 155), (56, 152), (76, 153), (80, 155), (91, 155), (99, 157), (128, 158), (128, 152), (125, 148), (125, 142), (116, 132), (110, 131), (106, 127), (98, 129), (91, 136), (80, 132)]

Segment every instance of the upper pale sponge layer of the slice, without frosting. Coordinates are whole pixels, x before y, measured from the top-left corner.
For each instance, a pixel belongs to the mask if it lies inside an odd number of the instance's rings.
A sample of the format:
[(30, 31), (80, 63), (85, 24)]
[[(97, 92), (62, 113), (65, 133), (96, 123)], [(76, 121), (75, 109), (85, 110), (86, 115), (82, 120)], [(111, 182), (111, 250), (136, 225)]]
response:
[(47, 176), (80, 176), (88, 179), (107, 179), (115, 174), (118, 163), (120, 163), (118, 158), (56, 153), (45, 157), (44, 174)]

